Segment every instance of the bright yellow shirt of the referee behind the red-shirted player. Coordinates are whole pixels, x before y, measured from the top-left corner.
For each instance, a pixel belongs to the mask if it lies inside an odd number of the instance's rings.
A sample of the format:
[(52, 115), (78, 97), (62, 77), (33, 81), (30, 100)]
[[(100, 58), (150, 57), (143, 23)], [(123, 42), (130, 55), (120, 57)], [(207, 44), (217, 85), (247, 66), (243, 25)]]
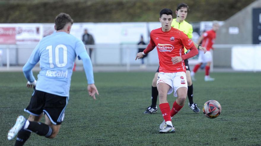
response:
[[(192, 25), (186, 22), (185, 20), (179, 23), (176, 22), (176, 19), (173, 19), (171, 26), (176, 29), (179, 29), (180, 31), (183, 31), (190, 39), (192, 39), (192, 32), (193, 32)], [(184, 52), (186, 53), (187, 49), (184, 49)]]

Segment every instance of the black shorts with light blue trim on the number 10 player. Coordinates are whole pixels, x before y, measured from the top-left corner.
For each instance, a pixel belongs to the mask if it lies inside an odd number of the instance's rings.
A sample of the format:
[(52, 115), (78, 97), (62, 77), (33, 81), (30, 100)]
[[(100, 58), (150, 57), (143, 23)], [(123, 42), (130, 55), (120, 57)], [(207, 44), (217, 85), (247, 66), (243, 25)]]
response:
[(44, 112), (52, 124), (60, 125), (64, 118), (67, 103), (68, 97), (34, 90), (30, 103), (24, 111), (34, 116), (40, 116)]

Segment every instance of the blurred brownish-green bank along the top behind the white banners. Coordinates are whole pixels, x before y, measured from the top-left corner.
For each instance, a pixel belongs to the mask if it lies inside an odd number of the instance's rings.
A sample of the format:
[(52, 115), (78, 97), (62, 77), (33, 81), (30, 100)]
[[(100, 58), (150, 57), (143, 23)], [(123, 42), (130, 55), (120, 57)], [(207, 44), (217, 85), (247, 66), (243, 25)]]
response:
[[(185, 2), (187, 21), (223, 21), (255, 0), (2, 0), (0, 23), (52, 23), (60, 12), (74, 22), (156, 22), (163, 8)], [(174, 14), (174, 17), (175, 14)]]

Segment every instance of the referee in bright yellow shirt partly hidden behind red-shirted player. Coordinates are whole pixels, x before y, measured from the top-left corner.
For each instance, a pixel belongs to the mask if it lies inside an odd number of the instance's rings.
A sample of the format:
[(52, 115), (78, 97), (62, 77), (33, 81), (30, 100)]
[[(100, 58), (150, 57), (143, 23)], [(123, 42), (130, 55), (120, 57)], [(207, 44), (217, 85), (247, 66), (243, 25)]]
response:
[[(176, 19), (173, 19), (171, 26), (179, 29), (181, 31), (183, 31), (190, 39), (192, 39), (192, 32), (193, 32), (193, 28), (192, 25), (189, 24), (188, 22), (185, 21), (186, 17), (187, 17), (187, 12), (189, 11), (189, 6), (185, 3), (181, 3), (178, 5), (177, 9), (176, 9)], [(206, 53), (206, 48), (202, 47), (201, 45), (198, 45), (194, 42), (194, 45), (196, 47), (198, 47), (198, 49), (200, 50), (204, 50), (204, 53)], [(185, 53), (187, 52), (186, 49)], [(188, 91), (187, 91), (187, 95), (188, 95), (188, 99), (189, 99), (189, 107), (195, 112), (195, 113), (199, 113), (200, 109), (198, 108), (198, 105), (196, 103), (193, 102), (193, 85), (192, 85), (192, 80), (191, 80), (191, 76), (190, 76), (190, 66), (188, 64), (188, 60), (184, 60), (185, 62), (185, 66), (187, 68), (186, 71), (186, 77), (187, 77), (187, 84), (188, 84)], [(146, 111), (144, 112), (144, 114), (153, 114), (157, 112), (157, 96), (158, 96), (158, 90), (157, 90), (157, 77), (159, 74), (159, 68), (155, 73), (155, 76), (152, 80), (152, 104), (151, 106), (146, 108)]]

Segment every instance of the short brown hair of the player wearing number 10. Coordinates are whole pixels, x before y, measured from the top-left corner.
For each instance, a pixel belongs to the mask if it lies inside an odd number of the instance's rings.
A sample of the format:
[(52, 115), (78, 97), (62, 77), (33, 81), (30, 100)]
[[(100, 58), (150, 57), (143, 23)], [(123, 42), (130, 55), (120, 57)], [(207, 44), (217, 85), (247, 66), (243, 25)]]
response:
[(55, 17), (55, 27), (56, 30), (60, 30), (63, 29), (63, 27), (67, 24), (67, 23), (71, 23), (73, 24), (73, 19), (71, 19), (71, 16), (69, 14), (66, 13), (60, 13), (59, 15), (57, 15)]

